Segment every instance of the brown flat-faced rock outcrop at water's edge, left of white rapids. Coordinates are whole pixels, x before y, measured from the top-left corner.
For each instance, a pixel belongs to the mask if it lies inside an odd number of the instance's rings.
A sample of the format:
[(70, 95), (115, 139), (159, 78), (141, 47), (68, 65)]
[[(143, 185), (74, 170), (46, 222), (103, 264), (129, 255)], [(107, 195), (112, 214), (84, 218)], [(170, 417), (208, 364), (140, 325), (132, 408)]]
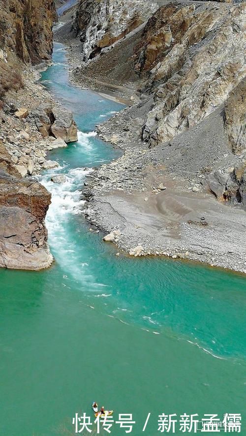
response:
[(44, 218), (51, 194), (22, 179), (0, 145), (0, 267), (40, 270), (51, 265)]

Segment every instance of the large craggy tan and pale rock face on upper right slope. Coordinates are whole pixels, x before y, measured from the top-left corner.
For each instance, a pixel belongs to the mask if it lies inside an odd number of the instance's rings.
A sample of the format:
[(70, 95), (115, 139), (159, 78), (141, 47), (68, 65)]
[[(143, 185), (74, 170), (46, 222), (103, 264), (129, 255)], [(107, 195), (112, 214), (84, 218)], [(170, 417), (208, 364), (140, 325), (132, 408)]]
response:
[[(242, 148), (244, 103), (236, 114), (233, 105), (243, 92), (245, 17), (245, 4), (171, 3), (149, 20), (135, 49), (135, 69), (147, 77), (145, 90), (154, 93), (143, 126), (150, 147), (199, 124), (231, 93), (226, 123)], [(230, 127), (232, 118), (237, 127)]]

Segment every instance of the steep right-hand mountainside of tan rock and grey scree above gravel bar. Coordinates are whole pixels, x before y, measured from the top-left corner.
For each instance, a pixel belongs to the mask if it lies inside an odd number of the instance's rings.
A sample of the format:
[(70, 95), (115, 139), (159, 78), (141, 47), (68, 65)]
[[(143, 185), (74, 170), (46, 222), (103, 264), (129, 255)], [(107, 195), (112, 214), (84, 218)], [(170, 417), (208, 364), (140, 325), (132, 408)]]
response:
[[(89, 42), (90, 29), (89, 20)], [(154, 162), (193, 192), (246, 207), (245, 41), (244, 3), (171, 2), (73, 77), (136, 102), (99, 127), (104, 139), (147, 146), (141, 165)]]

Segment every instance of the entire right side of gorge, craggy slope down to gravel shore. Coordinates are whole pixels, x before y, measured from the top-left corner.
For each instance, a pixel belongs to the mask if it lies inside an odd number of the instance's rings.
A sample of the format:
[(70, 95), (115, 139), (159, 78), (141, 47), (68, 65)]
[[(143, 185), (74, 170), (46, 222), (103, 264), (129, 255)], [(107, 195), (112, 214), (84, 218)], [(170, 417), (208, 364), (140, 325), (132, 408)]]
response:
[[(123, 156), (87, 176), (90, 223), (131, 256), (165, 255), (246, 273), (244, 5), (171, 3), (89, 62), (84, 33), (81, 46), (71, 26), (55, 37), (67, 43), (73, 83), (132, 104), (98, 126)], [(92, 22), (83, 26), (89, 32)]]

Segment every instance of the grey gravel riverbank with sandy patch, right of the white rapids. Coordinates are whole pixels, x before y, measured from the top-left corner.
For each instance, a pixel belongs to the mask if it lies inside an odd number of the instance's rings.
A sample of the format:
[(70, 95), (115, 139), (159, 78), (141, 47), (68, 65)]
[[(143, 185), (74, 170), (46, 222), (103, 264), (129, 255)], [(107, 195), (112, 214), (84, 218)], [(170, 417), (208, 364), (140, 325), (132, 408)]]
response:
[[(59, 30), (63, 41), (66, 32), (67, 29)], [(131, 38), (135, 38), (134, 32), (123, 43), (129, 46)], [(120, 82), (120, 91), (117, 91), (118, 73), (112, 75), (109, 66), (102, 68), (109, 57), (105, 56), (104, 60), (102, 56), (81, 68), (79, 44), (70, 39), (66, 41), (66, 50), (68, 62), (73, 66), (70, 71), (73, 84), (92, 90), (98, 83), (105, 84), (107, 93), (111, 86), (109, 78), (112, 78), (114, 93), (122, 97), (125, 81)], [(117, 57), (119, 51), (124, 54), (122, 45), (117, 47), (116, 44), (112, 56)], [(128, 55), (127, 52), (125, 56)], [(128, 69), (129, 65), (123, 71)], [(133, 81), (125, 86), (124, 97), (134, 95), (133, 104), (139, 101), (137, 84)], [(106, 233), (118, 230), (120, 234), (109, 239), (130, 255), (164, 255), (246, 273), (245, 212), (240, 207), (218, 202), (212, 193), (202, 190), (206, 176), (204, 162), (206, 167), (213, 168), (215, 156), (218, 160), (221, 156), (225, 156), (225, 162), (229, 160), (221, 110), (198, 128), (181, 135), (169, 147), (150, 150), (142, 141), (142, 125), (152, 103), (150, 96), (142, 94), (141, 104), (98, 125), (99, 136), (122, 149), (124, 155), (88, 176), (83, 192), (87, 200), (86, 217)], [(198, 155), (197, 140), (202, 150)], [(185, 161), (179, 147), (182, 141)]]

